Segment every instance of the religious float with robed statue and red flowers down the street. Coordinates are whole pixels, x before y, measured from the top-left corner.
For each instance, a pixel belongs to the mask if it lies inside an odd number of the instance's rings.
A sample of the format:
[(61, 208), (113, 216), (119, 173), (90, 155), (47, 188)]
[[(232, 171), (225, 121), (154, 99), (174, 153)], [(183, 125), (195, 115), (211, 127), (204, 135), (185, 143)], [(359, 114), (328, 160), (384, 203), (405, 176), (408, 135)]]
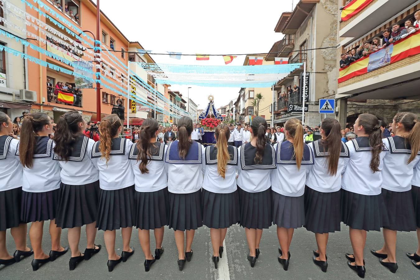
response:
[(204, 135), (202, 136), (203, 145), (209, 146), (216, 144), (214, 139), (214, 131), (222, 121), (223, 117), (214, 107), (214, 97), (209, 95), (209, 104), (207, 108), (199, 115), (198, 120), (201, 128), (204, 129)]

